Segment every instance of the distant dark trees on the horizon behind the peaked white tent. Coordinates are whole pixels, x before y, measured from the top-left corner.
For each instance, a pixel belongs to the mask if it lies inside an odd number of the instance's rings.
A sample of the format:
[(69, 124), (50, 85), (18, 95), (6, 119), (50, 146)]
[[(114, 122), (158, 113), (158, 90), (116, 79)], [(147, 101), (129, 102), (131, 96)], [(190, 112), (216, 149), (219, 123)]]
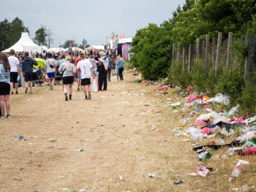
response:
[[(22, 32), (28, 32), (29, 28), (24, 26), (24, 22), (16, 17), (9, 22), (7, 19), (4, 19), (0, 22), (0, 51), (4, 49), (8, 49), (12, 47), (21, 36)], [(33, 42), (37, 45), (44, 45), (48, 48), (53, 44), (54, 39), (52, 38), (53, 33), (50, 29), (47, 29), (47, 26), (41, 25), (39, 29), (36, 30), (35, 36), (32, 38)], [(2, 45), (2, 46), (1, 46)], [(90, 47), (87, 40), (85, 38), (81, 42), (81, 44), (77, 44), (74, 40), (66, 40), (63, 44), (59, 45), (59, 47), (67, 48), (70, 47), (79, 47), (84, 49), (84, 47)], [(55, 47), (55, 46), (54, 46)]]

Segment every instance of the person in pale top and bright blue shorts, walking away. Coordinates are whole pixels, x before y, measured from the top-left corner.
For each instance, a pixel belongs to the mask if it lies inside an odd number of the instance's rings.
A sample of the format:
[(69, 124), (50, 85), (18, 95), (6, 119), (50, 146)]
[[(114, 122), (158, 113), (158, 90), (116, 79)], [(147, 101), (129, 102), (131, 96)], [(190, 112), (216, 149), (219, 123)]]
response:
[(50, 89), (53, 90), (55, 83), (55, 74), (57, 72), (57, 61), (52, 58), (51, 52), (48, 54), (48, 59), (44, 62), (45, 74), (47, 74)]

